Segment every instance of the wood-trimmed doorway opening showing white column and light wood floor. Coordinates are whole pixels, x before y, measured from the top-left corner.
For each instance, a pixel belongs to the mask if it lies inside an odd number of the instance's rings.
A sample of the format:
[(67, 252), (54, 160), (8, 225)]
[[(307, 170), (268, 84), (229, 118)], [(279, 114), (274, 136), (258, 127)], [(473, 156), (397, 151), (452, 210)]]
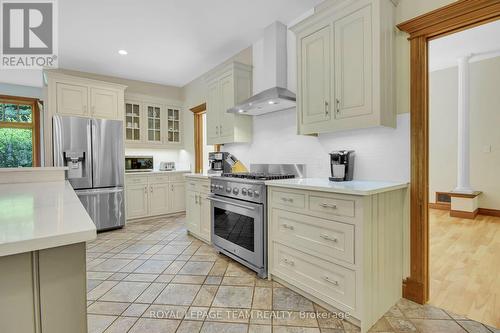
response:
[(500, 327), (500, 21), (429, 42), (429, 303)]

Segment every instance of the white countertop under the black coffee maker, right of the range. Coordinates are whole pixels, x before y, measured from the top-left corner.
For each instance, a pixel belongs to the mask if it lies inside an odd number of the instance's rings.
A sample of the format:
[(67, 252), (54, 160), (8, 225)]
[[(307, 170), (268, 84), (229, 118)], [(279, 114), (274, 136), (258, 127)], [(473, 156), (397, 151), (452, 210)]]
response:
[(270, 180), (266, 182), (266, 185), (339, 194), (373, 195), (406, 188), (408, 183), (370, 180), (332, 182), (328, 178), (293, 178)]

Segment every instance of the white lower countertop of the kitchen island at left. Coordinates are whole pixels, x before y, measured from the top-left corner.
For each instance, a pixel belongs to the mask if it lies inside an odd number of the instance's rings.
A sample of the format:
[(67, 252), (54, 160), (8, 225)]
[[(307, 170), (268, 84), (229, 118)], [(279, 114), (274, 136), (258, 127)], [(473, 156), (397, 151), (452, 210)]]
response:
[(95, 239), (68, 181), (0, 184), (0, 256)]

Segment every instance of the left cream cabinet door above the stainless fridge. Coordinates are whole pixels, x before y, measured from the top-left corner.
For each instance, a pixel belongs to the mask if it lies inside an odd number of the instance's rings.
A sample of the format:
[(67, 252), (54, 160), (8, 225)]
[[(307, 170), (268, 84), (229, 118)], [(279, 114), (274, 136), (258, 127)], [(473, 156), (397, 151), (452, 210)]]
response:
[(69, 116), (88, 116), (88, 88), (56, 83), (57, 113)]

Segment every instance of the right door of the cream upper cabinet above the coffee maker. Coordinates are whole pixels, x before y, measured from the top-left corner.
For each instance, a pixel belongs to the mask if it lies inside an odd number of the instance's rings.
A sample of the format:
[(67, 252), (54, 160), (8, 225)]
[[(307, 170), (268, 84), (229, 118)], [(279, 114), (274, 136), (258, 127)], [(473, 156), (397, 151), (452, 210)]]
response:
[(335, 22), (335, 71), (335, 117), (372, 113), (370, 7)]

